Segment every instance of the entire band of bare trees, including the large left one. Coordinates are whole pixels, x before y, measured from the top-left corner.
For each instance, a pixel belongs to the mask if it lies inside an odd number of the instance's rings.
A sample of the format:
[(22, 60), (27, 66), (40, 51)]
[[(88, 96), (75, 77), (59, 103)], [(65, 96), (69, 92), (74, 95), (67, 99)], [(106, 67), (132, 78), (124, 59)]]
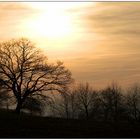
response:
[(0, 43), (0, 107), (17, 114), (105, 121), (140, 120), (140, 86), (115, 83), (95, 90), (74, 84), (71, 72), (25, 38)]

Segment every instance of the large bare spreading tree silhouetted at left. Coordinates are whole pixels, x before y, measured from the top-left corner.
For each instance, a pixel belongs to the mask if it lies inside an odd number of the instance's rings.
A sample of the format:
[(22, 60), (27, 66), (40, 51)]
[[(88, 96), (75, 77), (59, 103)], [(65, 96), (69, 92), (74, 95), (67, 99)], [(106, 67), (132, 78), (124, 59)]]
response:
[(71, 82), (71, 72), (63, 63), (48, 64), (46, 56), (28, 39), (0, 43), (0, 83), (14, 94), (17, 113), (30, 95), (61, 92)]

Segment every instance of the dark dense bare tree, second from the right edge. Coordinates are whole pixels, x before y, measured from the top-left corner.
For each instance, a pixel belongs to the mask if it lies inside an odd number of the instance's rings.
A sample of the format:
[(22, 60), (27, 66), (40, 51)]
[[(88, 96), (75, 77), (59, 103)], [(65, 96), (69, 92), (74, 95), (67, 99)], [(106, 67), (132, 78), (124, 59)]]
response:
[(117, 121), (123, 107), (121, 88), (116, 83), (112, 83), (111, 86), (101, 91), (100, 97), (104, 110), (104, 119)]

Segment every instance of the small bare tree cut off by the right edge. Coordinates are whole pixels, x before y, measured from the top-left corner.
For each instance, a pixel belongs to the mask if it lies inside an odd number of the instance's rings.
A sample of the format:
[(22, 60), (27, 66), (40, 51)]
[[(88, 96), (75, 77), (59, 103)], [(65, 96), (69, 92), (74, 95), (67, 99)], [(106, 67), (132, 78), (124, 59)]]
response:
[(128, 89), (126, 100), (129, 116), (136, 121), (140, 120), (140, 86), (138, 84)]

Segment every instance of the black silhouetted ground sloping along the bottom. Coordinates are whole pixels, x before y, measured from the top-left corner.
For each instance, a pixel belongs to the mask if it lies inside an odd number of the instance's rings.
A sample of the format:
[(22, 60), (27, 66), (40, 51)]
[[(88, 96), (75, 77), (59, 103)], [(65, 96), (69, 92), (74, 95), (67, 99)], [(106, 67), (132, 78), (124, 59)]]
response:
[(140, 123), (18, 116), (0, 111), (0, 138), (140, 138)]

